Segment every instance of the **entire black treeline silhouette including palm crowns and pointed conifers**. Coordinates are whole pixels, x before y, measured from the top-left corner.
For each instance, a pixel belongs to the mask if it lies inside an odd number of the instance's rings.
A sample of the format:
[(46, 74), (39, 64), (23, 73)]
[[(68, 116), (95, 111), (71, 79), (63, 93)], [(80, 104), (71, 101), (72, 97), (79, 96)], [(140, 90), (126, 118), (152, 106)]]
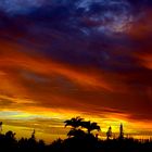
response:
[[(65, 127), (71, 127), (67, 138), (56, 139), (50, 144), (43, 140), (36, 140), (35, 130), (30, 138), (15, 138), (15, 132), (0, 134), (0, 152), (152, 152), (151, 140), (137, 140), (124, 137), (123, 124), (119, 126), (119, 136), (112, 135), (110, 126), (106, 139), (101, 140), (98, 134), (100, 126), (97, 123), (74, 117), (64, 122)], [(2, 123), (0, 123), (2, 129)]]

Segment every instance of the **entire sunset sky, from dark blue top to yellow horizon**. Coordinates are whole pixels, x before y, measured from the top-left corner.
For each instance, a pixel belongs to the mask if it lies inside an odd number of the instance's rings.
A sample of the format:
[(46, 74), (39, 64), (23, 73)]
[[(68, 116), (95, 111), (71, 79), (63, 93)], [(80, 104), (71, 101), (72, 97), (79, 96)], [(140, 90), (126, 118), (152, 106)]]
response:
[(74, 116), (152, 135), (151, 0), (1, 0), (3, 132), (65, 138)]

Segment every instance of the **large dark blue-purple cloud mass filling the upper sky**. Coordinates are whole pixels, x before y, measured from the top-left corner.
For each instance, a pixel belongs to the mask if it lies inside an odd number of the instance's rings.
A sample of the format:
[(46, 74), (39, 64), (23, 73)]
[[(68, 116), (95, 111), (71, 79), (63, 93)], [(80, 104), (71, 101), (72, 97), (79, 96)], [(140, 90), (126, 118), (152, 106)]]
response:
[[(148, 0), (3, 0), (1, 35), (56, 61), (118, 71), (135, 69), (126, 30)], [(138, 13), (140, 16), (140, 13)], [(22, 37), (16, 38), (15, 33)], [(125, 50), (124, 48), (127, 48)], [(121, 53), (119, 50), (122, 49)], [(123, 54), (123, 51), (127, 51)], [(124, 62), (124, 64), (122, 64)]]

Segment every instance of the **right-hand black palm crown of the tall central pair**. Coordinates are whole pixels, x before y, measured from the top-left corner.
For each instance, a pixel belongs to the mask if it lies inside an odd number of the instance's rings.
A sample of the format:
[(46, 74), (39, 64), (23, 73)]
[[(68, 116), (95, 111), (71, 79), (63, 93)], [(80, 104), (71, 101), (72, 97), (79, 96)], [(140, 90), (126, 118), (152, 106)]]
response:
[(88, 130), (88, 134), (91, 134), (92, 130), (100, 131), (100, 126), (97, 125), (97, 123), (88, 122), (81, 122), (81, 127), (86, 128)]

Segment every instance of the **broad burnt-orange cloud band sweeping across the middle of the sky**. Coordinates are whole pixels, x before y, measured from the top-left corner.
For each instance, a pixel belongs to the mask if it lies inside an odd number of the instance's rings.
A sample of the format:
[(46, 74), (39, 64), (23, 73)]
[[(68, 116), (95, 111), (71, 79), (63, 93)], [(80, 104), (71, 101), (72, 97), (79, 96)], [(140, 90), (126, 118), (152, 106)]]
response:
[[(80, 111), (87, 111), (89, 106), (90, 113), (100, 106), (138, 113), (147, 106), (143, 103), (147, 93), (140, 96), (139, 87), (134, 85), (141, 83), (143, 75), (140, 73), (111, 73), (93, 67), (85, 69), (43, 58), (35, 50), (26, 52), (26, 49), (17, 43), (1, 41), (2, 94), (22, 100), (28, 98), (35, 106)], [(140, 89), (142, 91), (144, 88)], [(137, 103), (141, 106), (136, 107)]]

